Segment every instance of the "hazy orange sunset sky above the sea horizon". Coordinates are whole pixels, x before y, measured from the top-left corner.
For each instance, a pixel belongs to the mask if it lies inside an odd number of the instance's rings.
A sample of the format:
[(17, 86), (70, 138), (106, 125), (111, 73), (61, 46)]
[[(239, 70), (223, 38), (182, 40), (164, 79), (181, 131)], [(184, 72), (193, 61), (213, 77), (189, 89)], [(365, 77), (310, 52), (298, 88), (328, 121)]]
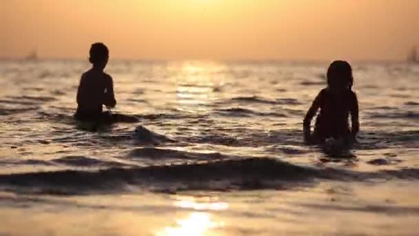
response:
[(405, 59), (419, 0), (0, 0), (0, 57)]

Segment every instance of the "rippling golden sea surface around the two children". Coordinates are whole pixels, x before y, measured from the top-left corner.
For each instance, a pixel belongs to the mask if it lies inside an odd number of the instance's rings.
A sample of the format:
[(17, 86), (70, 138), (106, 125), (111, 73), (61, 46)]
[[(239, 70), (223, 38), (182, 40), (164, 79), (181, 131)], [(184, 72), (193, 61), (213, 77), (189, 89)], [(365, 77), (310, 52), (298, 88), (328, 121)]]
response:
[(416, 235), (419, 66), (354, 63), (360, 144), (302, 121), (328, 63), (110, 61), (139, 124), (72, 114), (85, 61), (0, 61), (0, 235)]

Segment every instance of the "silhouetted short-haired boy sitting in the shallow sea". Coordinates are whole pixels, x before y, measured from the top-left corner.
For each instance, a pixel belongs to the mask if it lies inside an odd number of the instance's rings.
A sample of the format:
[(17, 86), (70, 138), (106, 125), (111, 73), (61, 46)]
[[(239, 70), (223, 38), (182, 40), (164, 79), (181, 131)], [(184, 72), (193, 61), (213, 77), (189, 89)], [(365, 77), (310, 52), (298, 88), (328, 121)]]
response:
[(90, 48), (89, 61), (93, 67), (81, 75), (77, 90), (77, 111), (74, 117), (82, 121), (112, 121), (110, 112), (103, 112), (103, 105), (116, 105), (112, 77), (103, 72), (109, 59), (109, 50), (103, 43)]

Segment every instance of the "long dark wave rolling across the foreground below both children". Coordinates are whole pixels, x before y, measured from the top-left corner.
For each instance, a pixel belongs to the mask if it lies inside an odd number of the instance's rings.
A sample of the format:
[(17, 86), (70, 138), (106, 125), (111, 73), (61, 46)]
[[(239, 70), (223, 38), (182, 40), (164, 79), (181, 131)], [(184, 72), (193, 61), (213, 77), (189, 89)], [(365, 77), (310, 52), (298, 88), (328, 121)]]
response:
[(112, 192), (129, 186), (161, 190), (258, 190), (286, 189), (320, 179), (365, 181), (367, 179), (419, 179), (419, 169), (381, 170), (359, 173), (337, 168), (311, 168), (278, 159), (249, 158), (198, 161), (194, 164), (165, 164), (105, 170), (57, 170), (0, 175), (6, 191), (79, 195)]

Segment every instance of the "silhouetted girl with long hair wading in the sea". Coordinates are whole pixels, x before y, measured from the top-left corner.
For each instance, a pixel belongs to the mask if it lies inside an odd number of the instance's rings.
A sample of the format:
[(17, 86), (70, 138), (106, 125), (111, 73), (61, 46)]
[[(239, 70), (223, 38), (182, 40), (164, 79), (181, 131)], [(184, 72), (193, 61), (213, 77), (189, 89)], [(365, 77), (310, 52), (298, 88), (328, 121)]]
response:
[[(352, 91), (354, 77), (347, 61), (334, 61), (327, 70), (327, 88), (319, 92), (304, 118), (304, 138), (309, 144), (324, 144), (326, 139), (356, 141), (359, 131), (358, 99)], [(313, 134), (311, 119), (320, 108)], [(351, 115), (351, 129), (348, 117)]]

